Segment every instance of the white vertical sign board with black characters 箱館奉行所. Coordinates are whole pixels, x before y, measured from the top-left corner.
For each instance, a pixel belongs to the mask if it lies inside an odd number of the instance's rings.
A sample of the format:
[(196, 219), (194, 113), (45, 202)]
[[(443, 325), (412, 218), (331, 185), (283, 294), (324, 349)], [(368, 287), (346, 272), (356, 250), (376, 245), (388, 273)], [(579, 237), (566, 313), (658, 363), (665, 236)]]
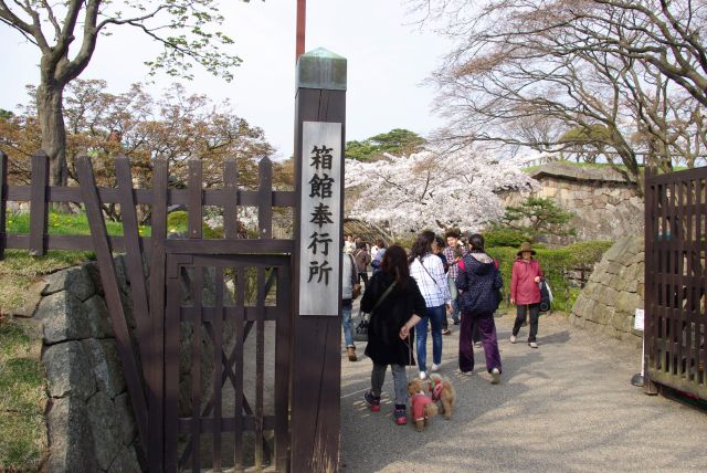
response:
[(341, 124), (304, 122), (299, 315), (339, 314), (341, 166)]

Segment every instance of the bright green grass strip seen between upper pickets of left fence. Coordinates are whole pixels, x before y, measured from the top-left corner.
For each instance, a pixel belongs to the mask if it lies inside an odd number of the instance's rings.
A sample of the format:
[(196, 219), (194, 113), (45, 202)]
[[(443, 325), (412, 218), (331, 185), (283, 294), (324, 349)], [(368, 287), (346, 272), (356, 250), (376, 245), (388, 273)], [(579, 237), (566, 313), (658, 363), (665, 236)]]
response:
[[(123, 223), (106, 220), (106, 230), (112, 236), (123, 235)], [(30, 232), (30, 214), (28, 212), (8, 216), (8, 233), (23, 234)], [(89, 235), (88, 218), (84, 212), (63, 213), (50, 210), (48, 232), (54, 235)], [(149, 236), (150, 227), (140, 225), (140, 235)]]

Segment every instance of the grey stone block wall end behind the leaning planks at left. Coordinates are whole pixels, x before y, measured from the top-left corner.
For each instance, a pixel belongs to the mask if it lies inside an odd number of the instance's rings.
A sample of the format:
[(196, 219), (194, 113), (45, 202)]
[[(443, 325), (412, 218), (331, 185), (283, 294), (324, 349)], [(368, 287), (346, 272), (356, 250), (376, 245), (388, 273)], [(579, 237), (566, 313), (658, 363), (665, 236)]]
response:
[[(128, 323), (123, 257), (116, 257)], [(140, 472), (137, 425), (95, 262), (45, 276), (41, 299), (49, 472)], [(134, 325), (134, 324), (133, 324)]]

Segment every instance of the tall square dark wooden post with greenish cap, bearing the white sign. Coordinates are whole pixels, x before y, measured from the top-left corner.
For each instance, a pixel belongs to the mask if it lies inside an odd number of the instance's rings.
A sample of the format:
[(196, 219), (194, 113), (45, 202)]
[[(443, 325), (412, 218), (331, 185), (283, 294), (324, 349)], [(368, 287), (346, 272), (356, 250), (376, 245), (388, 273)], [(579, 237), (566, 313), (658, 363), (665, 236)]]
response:
[[(339, 459), (339, 407), (341, 381), (341, 241), (344, 213), (344, 143), (346, 122), (346, 60), (324, 49), (310, 51), (299, 56), (297, 62), (297, 95), (295, 102), (295, 182), (297, 206), (296, 211), (296, 251), (294, 254), (293, 308), (294, 308), (294, 340), (292, 362), (292, 464), (293, 472), (336, 472)], [(307, 124), (305, 125), (305, 123)], [(314, 124), (313, 124), (314, 123)], [(314, 132), (313, 132), (314, 130)], [(327, 137), (328, 139), (324, 139)], [(314, 140), (314, 141), (313, 141)], [(319, 143), (338, 141), (338, 143)], [(313, 143), (320, 147), (313, 151)], [(319, 145), (317, 145), (319, 143)], [(321, 156), (319, 151), (325, 148)], [(307, 146), (303, 156), (303, 146)], [(313, 148), (313, 149), (309, 149)], [(338, 148), (338, 149), (337, 149)], [(314, 155), (313, 155), (314, 153)], [(309, 169), (318, 158), (327, 158), (329, 174), (317, 168)], [(328, 271), (329, 285), (326, 288), (316, 287), (313, 291), (303, 290), (305, 281), (302, 277), (302, 265), (315, 263), (312, 254), (300, 251), (305, 225), (315, 220), (306, 210), (303, 211), (306, 197), (315, 195), (306, 180), (303, 179), (303, 160), (307, 172), (314, 171), (313, 179), (333, 179), (335, 200), (331, 203), (333, 220), (326, 229), (319, 228), (319, 238), (325, 231), (328, 238), (328, 263), (333, 271)], [(312, 162), (310, 162), (312, 161)], [(306, 176), (306, 175), (305, 175)], [(308, 181), (312, 183), (312, 180)], [(307, 187), (305, 187), (307, 186)], [(338, 193), (337, 193), (338, 192)], [(324, 192), (321, 197), (328, 196)], [(338, 196), (338, 199), (336, 198)], [(338, 201), (337, 201), (338, 200)], [(329, 201), (324, 201), (329, 203)], [(324, 203), (321, 204), (324, 206)], [(318, 207), (321, 207), (318, 206)], [(338, 208), (337, 208), (338, 207)], [(338, 218), (338, 219), (337, 219)], [(321, 240), (318, 241), (320, 243)], [(304, 243), (306, 246), (307, 243)], [(317, 255), (321, 260), (324, 248), (319, 248)], [(319, 261), (320, 262), (320, 261)], [(325, 261), (324, 264), (327, 264)], [(321, 266), (324, 270), (324, 265)], [(319, 277), (320, 280), (320, 277)], [(317, 298), (317, 294), (327, 294), (325, 301)], [(303, 291), (300, 293), (300, 291)], [(334, 292), (335, 291), (335, 292)], [(334, 301), (336, 297), (336, 301)], [(300, 303), (307, 299), (308, 303)], [(314, 299), (314, 302), (313, 302)], [(305, 306), (316, 305), (326, 309), (304, 309)], [(318, 315), (313, 315), (318, 314)]]

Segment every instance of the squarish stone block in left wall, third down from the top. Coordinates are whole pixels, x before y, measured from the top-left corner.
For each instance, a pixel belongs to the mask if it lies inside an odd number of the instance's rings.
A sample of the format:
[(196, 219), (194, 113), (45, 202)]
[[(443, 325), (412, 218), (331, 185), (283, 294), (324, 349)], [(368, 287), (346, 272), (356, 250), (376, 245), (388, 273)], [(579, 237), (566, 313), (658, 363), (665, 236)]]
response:
[(80, 341), (64, 341), (48, 347), (42, 355), (42, 362), (46, 369), (51, 397), (85, 400), (96, 392), (91, 362)]

